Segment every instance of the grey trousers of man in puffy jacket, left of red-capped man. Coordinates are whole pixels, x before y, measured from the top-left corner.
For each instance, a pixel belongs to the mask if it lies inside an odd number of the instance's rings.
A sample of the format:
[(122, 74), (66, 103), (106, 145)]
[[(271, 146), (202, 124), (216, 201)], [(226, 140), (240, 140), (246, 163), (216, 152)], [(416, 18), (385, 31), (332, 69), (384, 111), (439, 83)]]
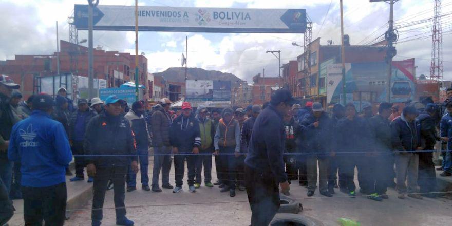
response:
[(159, 175), (162, 170), (162, 185), (170, 184), (171, 147), (154, 147), (154, 167), (152, 171), (152, 187), (159, 187)]

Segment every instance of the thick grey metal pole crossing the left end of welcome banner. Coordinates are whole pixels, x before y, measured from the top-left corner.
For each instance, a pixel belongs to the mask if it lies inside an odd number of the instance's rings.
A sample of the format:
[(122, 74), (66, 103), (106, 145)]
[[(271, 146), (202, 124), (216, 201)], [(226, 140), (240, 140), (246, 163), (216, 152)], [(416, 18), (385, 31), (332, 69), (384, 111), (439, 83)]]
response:
[(88, 0), (88, 98), (94, 97), (94, 70), (92, 56), (92, 7), (96, 7), (99, 0)]

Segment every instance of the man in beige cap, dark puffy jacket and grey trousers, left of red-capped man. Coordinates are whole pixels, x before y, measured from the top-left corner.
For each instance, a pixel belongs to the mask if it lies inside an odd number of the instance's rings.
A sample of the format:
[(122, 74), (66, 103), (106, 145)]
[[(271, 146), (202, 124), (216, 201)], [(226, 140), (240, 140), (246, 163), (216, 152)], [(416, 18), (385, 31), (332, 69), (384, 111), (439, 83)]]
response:
[(171, 101), (162, 98), (160, 103), (153, 107), (150, 117), (152, 129), (152, 144), (154, 146), (154, 168), (152, 171), (152, 191), (161, 192), (159, 187), (159, 174), (162, 171), (162, 187), (173, 189), (170, 184), (171, 170), (171, 142), (170, 130), (173, 119), (170, 116)]

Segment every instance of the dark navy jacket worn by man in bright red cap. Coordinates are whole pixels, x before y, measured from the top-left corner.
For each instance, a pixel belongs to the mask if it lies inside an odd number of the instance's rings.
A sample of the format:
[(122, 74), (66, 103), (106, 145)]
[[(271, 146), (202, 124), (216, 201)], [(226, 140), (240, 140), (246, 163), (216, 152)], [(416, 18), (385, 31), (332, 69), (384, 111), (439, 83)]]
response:
[(170, 130), (170, 142), (179, 149), (179, 153), (191, 153), (194, 147), (201, 146), (201, 135), (198, 120), (190, 114), (189, 117), (177, 117)]

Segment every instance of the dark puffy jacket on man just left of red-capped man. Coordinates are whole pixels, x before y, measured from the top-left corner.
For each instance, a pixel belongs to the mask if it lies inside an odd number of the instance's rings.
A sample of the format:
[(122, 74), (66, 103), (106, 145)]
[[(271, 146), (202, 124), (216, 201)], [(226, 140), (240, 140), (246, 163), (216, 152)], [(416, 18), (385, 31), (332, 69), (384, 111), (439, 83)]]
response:
[(165, 111), (162, 105), (157, 104), (153, 107), (150, 117), (150, 124), (153, 146), (171, 146), (170, 127), (173, 124), (173, 119)]

